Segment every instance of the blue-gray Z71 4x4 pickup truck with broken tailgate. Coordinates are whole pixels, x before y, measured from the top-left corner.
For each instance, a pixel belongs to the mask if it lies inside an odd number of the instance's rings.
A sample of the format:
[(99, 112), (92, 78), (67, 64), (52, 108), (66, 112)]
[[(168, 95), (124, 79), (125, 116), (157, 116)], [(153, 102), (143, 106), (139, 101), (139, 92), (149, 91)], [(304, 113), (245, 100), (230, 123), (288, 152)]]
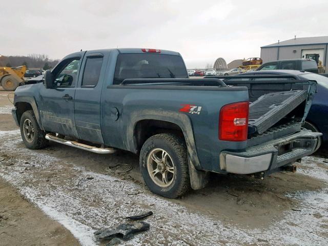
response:
[(27, 148), (131, 151), (148, 188), (175, 198), (210, 172), (295, 171), (321, 135), (302, 128), (315, 92), (316, 81), (288, 75), (191, 79), (177, 52), (105, 49), (67, 55), (43, 83), (18, 87), (12, 115)]

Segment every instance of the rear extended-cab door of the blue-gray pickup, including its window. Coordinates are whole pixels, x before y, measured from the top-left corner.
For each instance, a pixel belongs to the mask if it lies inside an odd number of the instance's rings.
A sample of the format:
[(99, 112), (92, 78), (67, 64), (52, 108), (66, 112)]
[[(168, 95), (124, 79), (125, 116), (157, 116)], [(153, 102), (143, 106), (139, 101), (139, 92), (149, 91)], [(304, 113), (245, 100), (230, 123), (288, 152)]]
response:
[(87, 51), (75, 92), (75, 124), (80, 139), (103, 144), (100, 96), (109, 52)]

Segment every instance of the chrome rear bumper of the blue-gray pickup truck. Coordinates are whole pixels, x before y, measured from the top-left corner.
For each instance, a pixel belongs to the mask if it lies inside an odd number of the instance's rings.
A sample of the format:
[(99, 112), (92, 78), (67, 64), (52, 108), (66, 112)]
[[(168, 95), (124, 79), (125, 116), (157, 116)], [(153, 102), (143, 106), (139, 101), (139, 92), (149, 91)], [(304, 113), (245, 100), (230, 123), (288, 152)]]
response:
[(304, 130), (250, 147), (243, 152), (222, 151), (220, 169), (228, 173), (253, 174), (290, 165), (311, 155), (322, 133)]

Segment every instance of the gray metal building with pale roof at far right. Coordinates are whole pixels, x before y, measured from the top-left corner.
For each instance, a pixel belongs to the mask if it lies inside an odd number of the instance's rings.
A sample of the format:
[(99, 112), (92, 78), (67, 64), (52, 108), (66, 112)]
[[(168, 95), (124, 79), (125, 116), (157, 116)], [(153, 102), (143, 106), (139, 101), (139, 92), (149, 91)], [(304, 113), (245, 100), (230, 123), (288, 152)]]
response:
[(295, 37), (275, 44), (261, 47), (263, 63), (271, 60), (299, 59), (305, 54), (319, 54), (322, 65), (327, 66), (328, 36)]

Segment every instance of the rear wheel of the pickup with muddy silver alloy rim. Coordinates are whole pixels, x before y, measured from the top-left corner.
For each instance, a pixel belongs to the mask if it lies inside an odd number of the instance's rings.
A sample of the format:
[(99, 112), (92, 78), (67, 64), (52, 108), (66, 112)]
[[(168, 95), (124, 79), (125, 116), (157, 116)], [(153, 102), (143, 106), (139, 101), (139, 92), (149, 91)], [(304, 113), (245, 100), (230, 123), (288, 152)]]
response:
[(148, 138), (140, 151), (140, 170), (153, 193), (176, 198), (190, 189), (187, 147), (174, 134)]

